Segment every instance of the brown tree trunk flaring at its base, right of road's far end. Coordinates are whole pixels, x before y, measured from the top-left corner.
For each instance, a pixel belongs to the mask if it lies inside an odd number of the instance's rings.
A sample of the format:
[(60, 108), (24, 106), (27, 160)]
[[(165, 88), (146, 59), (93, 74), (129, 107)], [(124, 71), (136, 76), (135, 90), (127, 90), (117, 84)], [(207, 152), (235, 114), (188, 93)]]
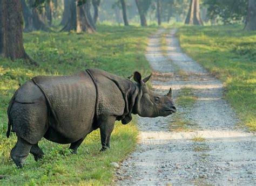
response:
[(190, 9), (187, 12), (185, 24), (203, 25), (203, 21), (200, 16), (199, 0), (190, 1)]

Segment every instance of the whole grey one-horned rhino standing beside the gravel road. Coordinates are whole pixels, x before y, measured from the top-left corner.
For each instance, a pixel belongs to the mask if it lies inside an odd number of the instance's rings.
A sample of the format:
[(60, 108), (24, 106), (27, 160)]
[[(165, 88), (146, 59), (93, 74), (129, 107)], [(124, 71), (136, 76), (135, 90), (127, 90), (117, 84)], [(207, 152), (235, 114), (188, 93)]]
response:
[(127, 124), (133, 115), (169, 116), (176, 112), (172, 90), (158, 95), (147, 88), (150, 76), (134, 81), (100, 69), (86, 69), (66, 76), (37, 76), (17, 89), (8, 106), (8, 131), (17, 135), (11, 158), (23, 167), (31, 153), (43, 158), (38, 142), (44, 137), (59, 144), (71, 144), (76, 154), (86, 135), (99, 128), (102, 148), (110, 148), (114, 122)]

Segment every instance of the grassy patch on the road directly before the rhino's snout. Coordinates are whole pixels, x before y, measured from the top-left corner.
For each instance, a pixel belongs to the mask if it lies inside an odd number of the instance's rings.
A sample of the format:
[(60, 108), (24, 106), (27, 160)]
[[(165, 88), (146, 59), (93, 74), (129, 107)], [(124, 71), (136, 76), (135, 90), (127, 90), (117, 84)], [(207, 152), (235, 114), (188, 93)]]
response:
[(196, 126), (196, 124), (191, 123), (191, 120), (187, 119), (185, 116), (186, 112), (190, 112), (191, 108), (193, 108), (196, 99), (192, 88), (184, 87), (179, 90), (178, 96), (175, 99), (175, 104), (178, 108), (182, 108), (182, 110), (173, 115), (172, 120), (170, 121), (170, 131), (192, 131), (191, 127)]

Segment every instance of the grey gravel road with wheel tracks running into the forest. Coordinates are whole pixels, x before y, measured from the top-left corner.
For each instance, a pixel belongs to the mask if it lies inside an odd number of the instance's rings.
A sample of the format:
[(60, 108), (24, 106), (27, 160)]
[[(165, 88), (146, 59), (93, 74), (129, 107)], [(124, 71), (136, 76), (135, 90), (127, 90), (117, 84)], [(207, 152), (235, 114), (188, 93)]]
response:
[(181, 51), (176, 30), (167, 34), (163, 55), (164, 32), (153, 35), (147, 47), (146, 58), (156, 72), (152, 85), (160, 94), (172, 87), (174, 100), (181, 88), (193, 88), (196, 104), (183, 116), (193, 130), (170, 132), (172, 116), (139, 117), (139, 145), (117, 169), (116, 184), (256, 185), (255, 134), (237, 128), (238, 119), (223, 99), (223, 84)]

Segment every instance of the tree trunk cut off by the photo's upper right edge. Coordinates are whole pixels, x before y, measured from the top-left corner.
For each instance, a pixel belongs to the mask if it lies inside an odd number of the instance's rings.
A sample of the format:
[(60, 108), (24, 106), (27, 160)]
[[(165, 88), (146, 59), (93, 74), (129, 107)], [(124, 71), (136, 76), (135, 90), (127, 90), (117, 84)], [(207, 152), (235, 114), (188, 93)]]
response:
[(246, 30), (256, 30), (256, 1), (249, 0), (246, 19)]

